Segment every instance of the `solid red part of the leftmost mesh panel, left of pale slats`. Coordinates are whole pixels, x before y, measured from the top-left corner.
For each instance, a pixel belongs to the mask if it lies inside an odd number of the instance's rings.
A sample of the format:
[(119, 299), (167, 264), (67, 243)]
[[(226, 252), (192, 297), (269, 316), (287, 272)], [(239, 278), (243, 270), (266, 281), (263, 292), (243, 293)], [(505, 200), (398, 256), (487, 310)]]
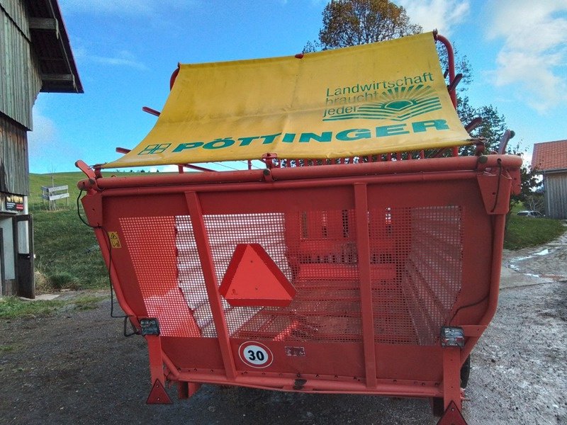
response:
[(121, 218), (120, 227), (147, 314), (157, 317), (161, 334), (201, 336), (178, 285), (174, 217)]

